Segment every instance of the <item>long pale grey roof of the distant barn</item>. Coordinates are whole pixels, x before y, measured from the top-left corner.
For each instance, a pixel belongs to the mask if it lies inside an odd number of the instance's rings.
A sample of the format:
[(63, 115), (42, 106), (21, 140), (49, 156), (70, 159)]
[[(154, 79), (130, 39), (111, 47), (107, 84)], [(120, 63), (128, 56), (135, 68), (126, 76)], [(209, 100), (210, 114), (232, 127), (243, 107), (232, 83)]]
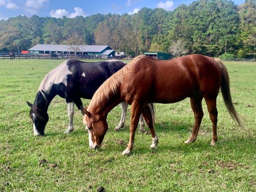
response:
[[(79, 52), (102, 52), (104, 49), (109, 47), (108, 45), (79, 45)], [(70, 51), (70, 45), (49, 45), (49, 44), (38, 44), (29, 50), (32, 51)]]

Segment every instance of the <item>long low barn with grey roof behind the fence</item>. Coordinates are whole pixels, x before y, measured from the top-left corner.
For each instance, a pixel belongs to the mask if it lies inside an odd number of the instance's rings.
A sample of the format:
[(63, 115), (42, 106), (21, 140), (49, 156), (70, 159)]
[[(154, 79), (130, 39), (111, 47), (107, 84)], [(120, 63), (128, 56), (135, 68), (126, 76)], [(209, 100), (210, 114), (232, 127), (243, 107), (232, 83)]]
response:
[[(76, 47), (76, 51), (72, 49)], [(99, 55), (113, 57), (115, 51), (108, 45), (48, 45), (38, 44), (29, 49), (33, 54), (62, 54), (62, 55)]]

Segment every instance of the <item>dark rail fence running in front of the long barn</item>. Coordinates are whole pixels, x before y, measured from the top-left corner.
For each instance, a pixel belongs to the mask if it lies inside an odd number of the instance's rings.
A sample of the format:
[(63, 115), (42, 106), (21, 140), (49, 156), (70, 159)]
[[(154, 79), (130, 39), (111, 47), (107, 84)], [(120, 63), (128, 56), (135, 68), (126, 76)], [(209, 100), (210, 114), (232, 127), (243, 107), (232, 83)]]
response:
[[(10, 59), (9, 53), (0, 53), (0, 59)], [(132, 58), (126, 56), (114, 56), (107, 57), (102, 55), (57, 55), (53, 57), (50, 54), (19, 54), (15, 53), (15, 59), (125, 59), (129, 60)]]

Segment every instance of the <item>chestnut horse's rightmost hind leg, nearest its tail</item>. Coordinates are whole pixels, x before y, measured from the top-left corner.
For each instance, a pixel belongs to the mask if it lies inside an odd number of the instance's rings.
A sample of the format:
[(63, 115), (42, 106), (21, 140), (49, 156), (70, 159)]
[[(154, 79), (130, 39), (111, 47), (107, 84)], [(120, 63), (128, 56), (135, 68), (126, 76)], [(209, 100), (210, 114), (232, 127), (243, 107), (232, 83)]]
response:
[(217, 117), (218, 111), (216, 107), (216, 98), (215, 99), (207, 99), (205, 98), (207, 109), (209, 111), (210, 119), (212, 121), (212, 142), (210, 145), (214, 146), (217, 143)]

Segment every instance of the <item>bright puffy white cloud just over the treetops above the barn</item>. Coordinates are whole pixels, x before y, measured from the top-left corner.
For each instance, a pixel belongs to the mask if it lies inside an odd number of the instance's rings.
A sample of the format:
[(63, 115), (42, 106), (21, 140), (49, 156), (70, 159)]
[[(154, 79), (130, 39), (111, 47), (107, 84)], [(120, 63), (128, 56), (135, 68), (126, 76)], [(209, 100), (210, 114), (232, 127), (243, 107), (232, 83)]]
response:
[(69, 13), (66, 9), (52, 10), (50, 12), (50, 16), (55, 17), (55, 18), (62, 18), (63, 16), (66, 16), (69, 18), (74, 18), (76, 16), (83, 16), (83, 17), (87, 16), (85, 14), (85, 12), (83, 11), (83, 9), (80, 7), (75, 7), (74, 11), (75, 12), (73, 12), (73, 13)]

